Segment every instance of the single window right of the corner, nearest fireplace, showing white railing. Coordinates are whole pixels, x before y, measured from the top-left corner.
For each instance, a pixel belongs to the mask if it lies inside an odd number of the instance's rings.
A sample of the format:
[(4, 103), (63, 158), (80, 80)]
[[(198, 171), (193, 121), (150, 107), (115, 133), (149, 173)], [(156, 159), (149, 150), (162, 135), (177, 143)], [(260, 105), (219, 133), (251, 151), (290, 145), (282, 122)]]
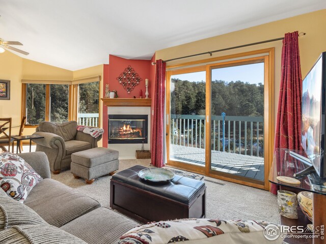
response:
[(78, 125), (99, 126), (99, 82), (78, 84)]

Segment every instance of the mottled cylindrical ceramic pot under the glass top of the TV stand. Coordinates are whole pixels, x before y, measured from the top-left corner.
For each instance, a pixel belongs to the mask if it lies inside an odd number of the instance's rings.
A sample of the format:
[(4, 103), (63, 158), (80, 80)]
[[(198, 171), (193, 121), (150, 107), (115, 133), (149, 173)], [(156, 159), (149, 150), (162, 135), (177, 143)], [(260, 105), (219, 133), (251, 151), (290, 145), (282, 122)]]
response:
[(279, 190), (277, 192), (277, 201), (280, 215), (289, 219), (297, 219), (297, 196), (295, 193)]

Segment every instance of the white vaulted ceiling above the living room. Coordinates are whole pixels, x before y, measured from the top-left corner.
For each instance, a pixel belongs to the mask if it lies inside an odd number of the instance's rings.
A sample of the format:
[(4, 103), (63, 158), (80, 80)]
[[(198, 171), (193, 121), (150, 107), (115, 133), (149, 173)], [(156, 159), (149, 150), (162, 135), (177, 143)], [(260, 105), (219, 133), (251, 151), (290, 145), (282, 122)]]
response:
[(107, 64), (108, 54), (150, 59), (156, 50), (325, 8), (325, 0), (0, 0), (0, 38), (21, 42), (14, 47), (30, 53), (22, 57), (78, 70)]

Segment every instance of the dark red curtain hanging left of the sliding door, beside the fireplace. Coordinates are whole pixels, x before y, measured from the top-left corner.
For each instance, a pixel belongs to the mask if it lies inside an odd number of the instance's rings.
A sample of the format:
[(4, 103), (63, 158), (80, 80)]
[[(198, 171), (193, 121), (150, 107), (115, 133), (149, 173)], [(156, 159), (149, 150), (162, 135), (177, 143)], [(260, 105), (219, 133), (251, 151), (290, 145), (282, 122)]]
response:
[(156, 60), (156, 82), (154, 93), (154, 116), (151, 140), (151, 164), (164, 166), (164, 106), (166, 63)]

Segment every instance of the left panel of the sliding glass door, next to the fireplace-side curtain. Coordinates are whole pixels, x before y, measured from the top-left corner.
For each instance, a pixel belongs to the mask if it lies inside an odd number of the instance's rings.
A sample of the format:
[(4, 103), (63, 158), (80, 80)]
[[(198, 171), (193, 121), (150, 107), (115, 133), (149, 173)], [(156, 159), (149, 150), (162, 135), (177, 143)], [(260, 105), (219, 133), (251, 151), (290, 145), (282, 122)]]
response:
[(181, 168), (205, 170), (205, 67), (169, 72), (169, 160)]

